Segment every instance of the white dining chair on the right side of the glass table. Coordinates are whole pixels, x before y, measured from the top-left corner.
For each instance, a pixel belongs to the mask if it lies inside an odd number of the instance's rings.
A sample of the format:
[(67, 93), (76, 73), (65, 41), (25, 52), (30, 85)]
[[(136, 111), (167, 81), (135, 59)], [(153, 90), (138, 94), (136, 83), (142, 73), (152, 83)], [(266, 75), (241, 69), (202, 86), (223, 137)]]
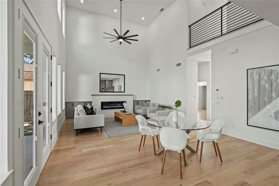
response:
[[(216, 152), (216, 147), (217, 147), (218, 154), (219, 154), (219, 157), (220, 157), (220, 161), (222, 163), (222, 157), (221, 157), (221, 153), (220, 153), (220, 149), (219, 149), (219, 145), (218, 145), (218, 140), (221, 139), (222, 128), (223, 128), (223, 126), (225, 125), (226, 122), (227, 121), (224, 120), (224, 119), (217, 119), (209, 127), (210, 131), (204, 131), (204, 130), (198, 130), (197, 131), (198, 143), (197, 143), (197, 150), (196, 150), (196, 152), (198, 152), (199, 141), (202, 141), (199, 162), (202, 161), (203, 141), (212, 141), (213, 146), (214, 146), (214, 150), (215, 150), (215, 154), (217, 156), (217, 152)], [(216, 146), (215, 146), (215, 144), (216, 144)]]

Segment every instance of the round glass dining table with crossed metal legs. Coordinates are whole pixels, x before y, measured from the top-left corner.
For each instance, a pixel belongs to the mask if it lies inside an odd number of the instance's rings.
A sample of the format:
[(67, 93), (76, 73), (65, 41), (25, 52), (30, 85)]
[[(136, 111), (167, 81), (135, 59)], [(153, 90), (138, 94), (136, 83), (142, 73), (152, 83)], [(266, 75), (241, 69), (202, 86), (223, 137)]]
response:
[[(152, 117), (147, 119), (147, 123), (159, 128), (169, 127), (181, 129), (184, 130), (187, 134), (189, 134), (191, 131), (206, 129), (210, 127), (210, 124), (204, 120), (196, 120), (195, 122), (189, 122), (187, 121), (185, 116), (178, 116), (178, 122), (172, 121), (172, 117), (168, 118), (168, 116)], [(196, 151), (193, 148), (191, 148), (188, 144), (186, 148), (190, 150), (192, 153), (196, 153)], [(156, 155), (161, 155), (163, 151), (164, 148), (157, 152)]]

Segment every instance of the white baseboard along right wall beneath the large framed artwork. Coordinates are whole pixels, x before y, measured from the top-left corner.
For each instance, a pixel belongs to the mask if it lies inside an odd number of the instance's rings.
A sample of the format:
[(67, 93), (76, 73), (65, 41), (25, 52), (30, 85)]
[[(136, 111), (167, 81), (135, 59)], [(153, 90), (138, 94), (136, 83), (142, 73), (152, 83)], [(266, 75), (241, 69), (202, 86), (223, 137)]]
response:
[(274, 143), (272, 141), (267, 141), (264, 139), (259, 139), (259, 138), (255, 138), (252, 136), (243, 135), (243, 134), (240, 134), (237, 132), (232, 132), (232, 131), (228, 131), (228, 130), (224, 130), (224, 129), (222, 130), (222, 134), (229, 135), (229, 136), (232, 136), (232, 137), (235, 137), (238, 139), (243, 139), (245, 141), (249, 141), (249, 142), (252, 142), (255, 144), (260, 144), (260, 145), (264, 145), (266, 147), (275, 148), (275, 149), (279, 150), (279, 144)]

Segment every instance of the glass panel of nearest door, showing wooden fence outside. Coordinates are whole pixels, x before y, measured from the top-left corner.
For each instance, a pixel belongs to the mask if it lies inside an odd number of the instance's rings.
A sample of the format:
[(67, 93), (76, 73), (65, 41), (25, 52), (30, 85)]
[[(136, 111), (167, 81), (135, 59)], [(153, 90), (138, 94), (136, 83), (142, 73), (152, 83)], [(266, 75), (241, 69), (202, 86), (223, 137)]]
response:
[(24, 181), (34, 167), (34, 54), (36, 36), (24, 24)]

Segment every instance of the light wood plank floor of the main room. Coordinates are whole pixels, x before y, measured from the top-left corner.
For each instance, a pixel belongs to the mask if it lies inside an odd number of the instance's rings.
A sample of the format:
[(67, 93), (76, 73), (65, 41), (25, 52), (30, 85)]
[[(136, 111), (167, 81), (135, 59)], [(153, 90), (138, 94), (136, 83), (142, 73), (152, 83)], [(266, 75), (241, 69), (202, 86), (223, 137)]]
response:
[[(195, 133), (190, 146), (196, 148)], [(279, 151), (223, 135), (219, 147), (204, 142), (199, 152), (187, 149), (189, 166), (182, 162), (179, 178), (178, 153), (168, 152), (161, 175), (162, 156), (154, 156), (150, 136), (138, 152), (141, 135), (107, 139), (100, 129), (75, 135), (73, 119), (66, 120), (37, 185), (177, 185), (177, 186), (275, 186), (279, 185)], [(156, 141), (156, 150), (159, 150)], [(200, 150), (200, 149), (199, 149)]]

